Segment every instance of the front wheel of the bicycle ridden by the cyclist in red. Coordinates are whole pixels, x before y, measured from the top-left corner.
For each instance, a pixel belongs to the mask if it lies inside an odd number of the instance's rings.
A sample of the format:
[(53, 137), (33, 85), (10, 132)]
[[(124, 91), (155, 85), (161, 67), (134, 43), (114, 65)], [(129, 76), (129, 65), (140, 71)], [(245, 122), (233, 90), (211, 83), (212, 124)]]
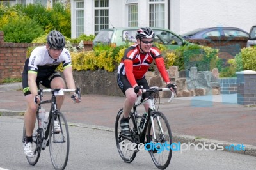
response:
[[(153, 135), (152, 122), (148, 125), (147, 141), (154, 146), (152, 150), (149, 150), (150, 156), (158, 169), (166, 169), (169, 166), (172, 158), (172, 132), (167, 118), (162, 112), (153, 113), (154, 131), (156, 139)], [(166, 146), (166, 147), (165, 147)], [(154, 152), (157, 150), (157, 153)]]

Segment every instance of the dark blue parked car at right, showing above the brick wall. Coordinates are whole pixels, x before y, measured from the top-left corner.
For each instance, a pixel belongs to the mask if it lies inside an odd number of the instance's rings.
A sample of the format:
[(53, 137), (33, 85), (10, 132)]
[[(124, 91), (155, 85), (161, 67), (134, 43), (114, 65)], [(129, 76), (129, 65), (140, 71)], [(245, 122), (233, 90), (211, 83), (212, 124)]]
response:
[(185, 40), (207, 39), (210, 36), (218, 37), (249, 37), (249, 33), (237, 27), (209, 27), (198, 28), (180, 35)]

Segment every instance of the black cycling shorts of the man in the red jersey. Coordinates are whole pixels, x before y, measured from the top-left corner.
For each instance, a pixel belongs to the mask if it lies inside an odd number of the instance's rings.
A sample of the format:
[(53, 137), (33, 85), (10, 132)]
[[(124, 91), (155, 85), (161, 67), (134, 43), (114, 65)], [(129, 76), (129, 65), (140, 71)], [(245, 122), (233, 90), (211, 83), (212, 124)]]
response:
[[(145, 77), (143, 77), (142, 79), (138, 79), (136, 80), (137, 84), (139, 86), (143, 86), (144, 89), (149, 89), (148, 86), (148, 82), (147, 79)], [(126, 75), (122, 75), (120, 73), (118, 73), (117, 75), (117, 84), (119, 86), (119, 88), (122, 90), (122, 92), (125, 95), (125, 91), (129, 88), (132, 88), (130, 82), (128, 81)], [(149, 93), (142, 93), (142, 97), (143, 98), (148, 98), (149, 97)]]

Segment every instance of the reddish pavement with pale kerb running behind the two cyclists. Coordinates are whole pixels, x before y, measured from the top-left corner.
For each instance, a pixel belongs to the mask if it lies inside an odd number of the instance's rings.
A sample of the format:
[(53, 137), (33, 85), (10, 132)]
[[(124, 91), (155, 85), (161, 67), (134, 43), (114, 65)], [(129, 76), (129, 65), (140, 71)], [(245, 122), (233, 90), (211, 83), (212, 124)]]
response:
[[(24, 114), (26, 102), (21, 83), (0, 84), (1, 116)], [(45, 93), (44, 99), (50, 98)], [(106, 95), (82, 95), (82, 101), (74, 104), (65, 95), (61, 107), (70, 125), (97, 128), (115, 132), (116, 114), (124, 97)], [(45, 110), (50, 106), (45, 105)], [(159, 111), (170, 123), (174, 143), (211, 146), (223, 151), (256, 157), (256, 107), (237, 104), (237, 94), (176, 97), (171, 103), (161, 98)], [(143, 108), (138, 109), (143, 112)], [(1, 125), (1, 123), (0, 123)]]

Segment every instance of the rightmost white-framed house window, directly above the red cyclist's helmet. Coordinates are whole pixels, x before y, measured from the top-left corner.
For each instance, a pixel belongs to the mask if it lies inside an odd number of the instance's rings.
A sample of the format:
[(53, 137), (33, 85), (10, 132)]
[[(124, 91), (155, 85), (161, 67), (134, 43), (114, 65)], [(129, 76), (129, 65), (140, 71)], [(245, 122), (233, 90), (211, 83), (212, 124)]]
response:
[(165, 0), (149, 1), (149, 26), (164, 27), (165, 25)]

